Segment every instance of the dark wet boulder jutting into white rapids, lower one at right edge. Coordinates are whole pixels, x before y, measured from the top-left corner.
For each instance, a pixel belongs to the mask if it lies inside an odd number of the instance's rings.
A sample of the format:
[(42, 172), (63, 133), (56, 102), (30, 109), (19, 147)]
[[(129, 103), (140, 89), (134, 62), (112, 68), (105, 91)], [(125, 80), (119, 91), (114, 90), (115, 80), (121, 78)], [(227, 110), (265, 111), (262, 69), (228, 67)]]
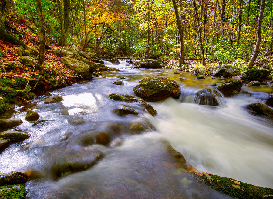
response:
[(246, 106), (248, 110), (254, 115), (266, 116), (269, 119), (273, 119), (273, 110), (262, 103), (253, 103)]

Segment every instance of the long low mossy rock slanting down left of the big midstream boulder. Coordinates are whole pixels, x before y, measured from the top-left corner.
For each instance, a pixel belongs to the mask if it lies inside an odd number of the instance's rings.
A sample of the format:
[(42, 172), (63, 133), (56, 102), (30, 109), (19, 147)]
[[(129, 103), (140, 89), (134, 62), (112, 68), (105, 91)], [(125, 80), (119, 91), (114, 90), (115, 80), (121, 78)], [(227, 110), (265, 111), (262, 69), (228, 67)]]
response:
[(152, 116), (155, 116), (157, 114), (156, 110), (153, 109), (153, 106), (144, 102), (143, 99), (140, 99), (140, 98), (133, 96), (133, 95), (121, 95), (121, 94), (112, 93), (112, 94), (110, 94), (110, 99), (117, 100), (117, 101), (123, 101), (123, 102), (127, 102), (127, 103), (137, 103), (137, 104), (140, 104), (141, 106), (144, 106), (144, 108)]

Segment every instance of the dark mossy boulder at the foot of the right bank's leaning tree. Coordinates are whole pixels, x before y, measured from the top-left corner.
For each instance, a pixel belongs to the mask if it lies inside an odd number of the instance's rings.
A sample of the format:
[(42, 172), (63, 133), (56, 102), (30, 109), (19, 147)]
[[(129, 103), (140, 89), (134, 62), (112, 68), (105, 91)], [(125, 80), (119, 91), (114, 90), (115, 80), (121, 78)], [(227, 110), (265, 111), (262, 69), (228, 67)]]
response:
[(250, 69), (248, 71), (246, 71), (243, 76), (242, 76), (242, 80), (245, 81), (262, 81), (263, 79), (267, 79), (271, 78), (269, 77), (270, 75), (270, 71), (266, 70), (266, 69)]

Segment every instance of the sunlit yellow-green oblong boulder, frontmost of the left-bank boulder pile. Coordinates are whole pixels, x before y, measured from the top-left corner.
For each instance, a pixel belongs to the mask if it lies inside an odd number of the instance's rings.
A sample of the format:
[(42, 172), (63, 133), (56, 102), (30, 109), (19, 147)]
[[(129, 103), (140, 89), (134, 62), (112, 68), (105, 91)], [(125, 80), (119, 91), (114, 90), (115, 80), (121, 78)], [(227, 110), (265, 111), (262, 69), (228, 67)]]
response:
[(62, 63), (77, 73), (87, 73), (90, 69), (86, 63), (71, 57), (62, 58)]

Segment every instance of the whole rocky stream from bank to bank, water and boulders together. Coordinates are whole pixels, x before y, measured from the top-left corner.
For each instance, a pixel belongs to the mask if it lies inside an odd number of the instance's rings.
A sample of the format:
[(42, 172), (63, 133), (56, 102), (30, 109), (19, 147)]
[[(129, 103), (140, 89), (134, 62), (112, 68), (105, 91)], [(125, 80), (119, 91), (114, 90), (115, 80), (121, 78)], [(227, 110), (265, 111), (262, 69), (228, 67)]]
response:
[(0, 116), (0, 194), (273, 194), (271, 87), (115, 64), (105, 61), (119, 71), (44, 93)]

